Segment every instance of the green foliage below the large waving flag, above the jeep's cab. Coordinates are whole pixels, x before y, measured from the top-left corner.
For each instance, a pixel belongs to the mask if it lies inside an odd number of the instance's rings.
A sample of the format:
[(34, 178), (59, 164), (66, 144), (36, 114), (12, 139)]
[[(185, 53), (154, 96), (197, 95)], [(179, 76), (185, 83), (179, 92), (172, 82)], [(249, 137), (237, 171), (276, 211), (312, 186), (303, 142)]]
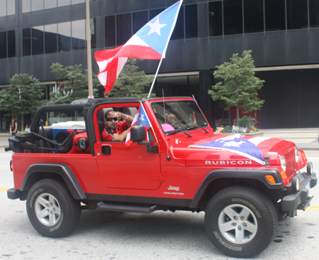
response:
[[(150, 87), (153, 79), (146, 77), (143, 70), (138, 71), (138, 66), (135, 65), (137, 62), (137, 59), (128, 59), (113, 89), (106, 97), (147, 97), (145, 87)], [(151, 94), (151, 97), (155, 97), (155, 94)]]

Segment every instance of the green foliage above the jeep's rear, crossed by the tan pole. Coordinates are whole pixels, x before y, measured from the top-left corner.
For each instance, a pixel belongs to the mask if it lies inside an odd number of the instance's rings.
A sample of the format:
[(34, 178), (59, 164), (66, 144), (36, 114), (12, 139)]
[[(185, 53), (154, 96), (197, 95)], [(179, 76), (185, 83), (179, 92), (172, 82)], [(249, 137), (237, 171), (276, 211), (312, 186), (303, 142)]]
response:
[[(49, 104), (70, 104), (75, 99), (86, 99), (89, 95), (87, 70), (82, 69), (82, 64), (64, 67), (60, 63), (53, 63), (51, 72), (59, 75), (63, 82), (58, 93), (50, 93)], [(99, 80), (92, 73), (93, 94), (98, 97)]]

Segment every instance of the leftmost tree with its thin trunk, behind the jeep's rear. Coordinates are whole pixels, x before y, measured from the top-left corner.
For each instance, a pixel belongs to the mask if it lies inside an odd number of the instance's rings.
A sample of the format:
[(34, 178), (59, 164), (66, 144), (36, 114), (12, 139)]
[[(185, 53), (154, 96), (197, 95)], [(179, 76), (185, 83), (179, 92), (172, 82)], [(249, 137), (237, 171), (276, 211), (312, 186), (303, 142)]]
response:
[[(12, 92), (16, 92), (16, 101), (20, 103), (19, 114), (31, 114), (33, 117), (34, 113), (41, 107), (43, 92), (40, 88), (40, 82), (33, 76), (28, 74), (16, 74), (10, 79)], [(23, 129), (23, 116), (21, 120), (21, 129)]]

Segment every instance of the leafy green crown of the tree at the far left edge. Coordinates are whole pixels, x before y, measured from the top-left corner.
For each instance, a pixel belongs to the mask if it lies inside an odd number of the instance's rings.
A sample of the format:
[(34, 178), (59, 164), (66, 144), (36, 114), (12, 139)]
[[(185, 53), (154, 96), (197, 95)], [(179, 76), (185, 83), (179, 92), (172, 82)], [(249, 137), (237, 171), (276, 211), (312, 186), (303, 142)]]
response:
[(40, 82), (28, 74), (16, 74), (10, 79), (11, 87), (1, 90), (1, 110), (15, 114), (31, 114), (41, 106), (43, 92)]

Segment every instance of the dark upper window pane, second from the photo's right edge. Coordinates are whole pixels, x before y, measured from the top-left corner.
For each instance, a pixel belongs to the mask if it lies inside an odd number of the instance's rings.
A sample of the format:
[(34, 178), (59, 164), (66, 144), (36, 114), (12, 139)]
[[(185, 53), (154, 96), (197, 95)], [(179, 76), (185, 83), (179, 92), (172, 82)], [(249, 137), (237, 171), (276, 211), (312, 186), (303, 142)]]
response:
[(287, 28), (308, 28), (308, 6), (307, 1), (286, 0), (287, 3)]

